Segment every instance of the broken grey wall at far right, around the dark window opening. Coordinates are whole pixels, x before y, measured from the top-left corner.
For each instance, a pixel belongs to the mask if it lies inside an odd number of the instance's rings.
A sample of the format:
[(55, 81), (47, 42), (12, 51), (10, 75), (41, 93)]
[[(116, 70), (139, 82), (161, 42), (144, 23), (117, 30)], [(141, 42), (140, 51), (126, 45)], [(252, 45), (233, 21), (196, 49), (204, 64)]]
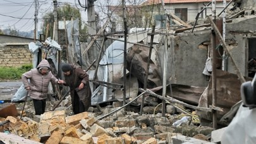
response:
[[(254, 15), (233, 19), (232, 23), (226, 23), (226, 41), (235, 41), (235, 43), (229, 44), (229, 48), (236, 65), (238, 65), (238, 69), (245, 76), (248, 76), (248, 38), (252, 38), (253, 35), (255, 37), (255, 23), (256, 16)], [(228, 59), (228, 72), (236, 74), (230, 57)]]

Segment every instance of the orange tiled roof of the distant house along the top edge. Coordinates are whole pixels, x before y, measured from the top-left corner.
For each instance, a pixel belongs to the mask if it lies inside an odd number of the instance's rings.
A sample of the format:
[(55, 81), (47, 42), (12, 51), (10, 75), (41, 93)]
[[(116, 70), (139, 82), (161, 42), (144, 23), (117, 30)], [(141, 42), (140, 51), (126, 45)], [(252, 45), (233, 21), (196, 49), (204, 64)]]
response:
[[(175, 4), (175, 3), (209, 3), (212, 0), (164, 0), (165, 4)], [(223, 0), (216, 0), (218, 2), (221, 2)], [(230, 0), (227, 0), (230, 1)], [(161, 4), (161, 0), (148, 0), (146, 2), (147, 4)]]

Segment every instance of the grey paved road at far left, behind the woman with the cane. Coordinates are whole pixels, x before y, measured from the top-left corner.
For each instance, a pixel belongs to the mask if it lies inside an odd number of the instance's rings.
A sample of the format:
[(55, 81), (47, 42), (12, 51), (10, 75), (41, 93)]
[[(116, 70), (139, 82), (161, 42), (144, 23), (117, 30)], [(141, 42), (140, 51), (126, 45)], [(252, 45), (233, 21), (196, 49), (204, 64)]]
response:
[(10, 100), (22, 85), (22, 82), (0, 82), (0, 100)]

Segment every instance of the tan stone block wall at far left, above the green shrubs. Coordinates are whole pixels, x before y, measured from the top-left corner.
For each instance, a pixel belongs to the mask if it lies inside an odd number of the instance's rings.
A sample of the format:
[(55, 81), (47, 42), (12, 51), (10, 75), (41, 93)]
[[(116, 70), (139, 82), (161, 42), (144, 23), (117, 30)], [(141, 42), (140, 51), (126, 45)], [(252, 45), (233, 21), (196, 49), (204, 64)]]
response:
[(32, 57), (28, 45), (0, 45), (0, 67), (21, 67), (32, 64)]

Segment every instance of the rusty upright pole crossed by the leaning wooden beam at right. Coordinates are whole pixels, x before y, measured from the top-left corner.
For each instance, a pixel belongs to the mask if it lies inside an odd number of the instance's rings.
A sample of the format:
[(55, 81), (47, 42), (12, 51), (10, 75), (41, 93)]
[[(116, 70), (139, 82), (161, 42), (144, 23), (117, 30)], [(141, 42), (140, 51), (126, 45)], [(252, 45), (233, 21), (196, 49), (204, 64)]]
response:
[[(212, 17), (216, 22), (216, 0), (212, 0)], [(216, 33), (212, 30), (212, 107), (216, 107)], [(217, 129), (217, 113), (212, 109), (212, 127)]]

